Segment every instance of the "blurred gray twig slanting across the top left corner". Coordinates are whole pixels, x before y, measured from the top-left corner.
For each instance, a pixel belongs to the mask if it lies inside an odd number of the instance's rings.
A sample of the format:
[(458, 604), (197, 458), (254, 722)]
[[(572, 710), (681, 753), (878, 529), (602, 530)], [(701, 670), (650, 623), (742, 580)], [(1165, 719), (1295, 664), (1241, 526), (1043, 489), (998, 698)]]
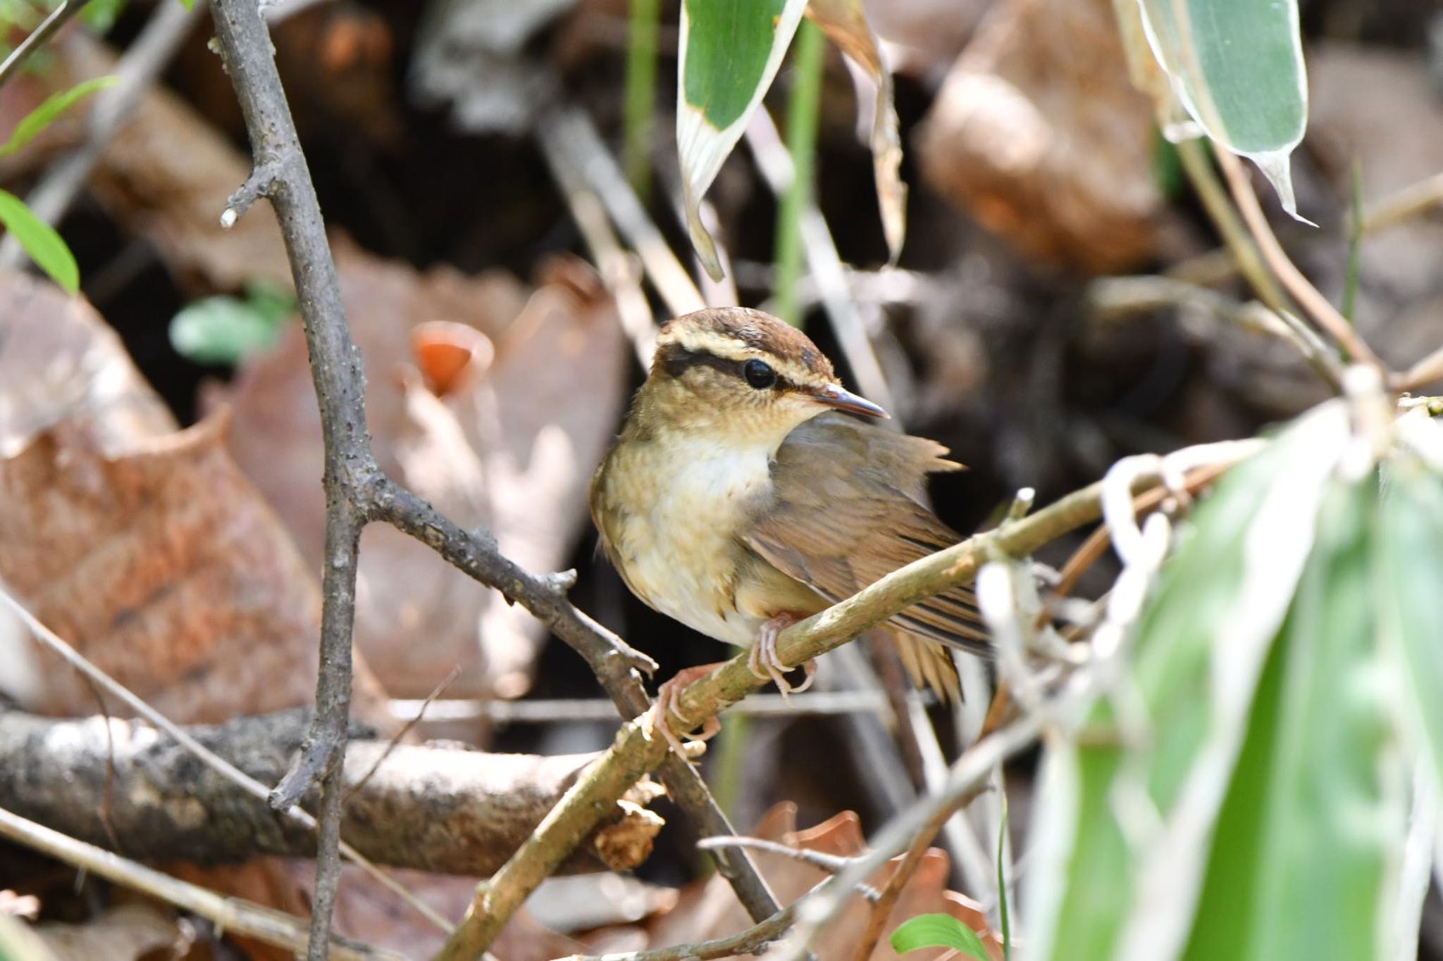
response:
[[(85, 4), (71, 1), (63, 6), (75, 10)], [(85, 143), (52, 164), (40, 183), (26, 196), (26, 206), (35, 216), (52, 226), (61, 222), (71, 203), (89, 182), (91, 171), (100, 163), (110, 141), (136, 112), (146, 91), (175, 58), (176, 50), (180, 49), (203, 13), (205, 0), (196, 0), (193, 9), (189, 10), (180, 3), (156, 4), (144, 30), (115, 65), (115, 84), (95, 95), (87, 121)], [(7, 236), (0, 241), (0, 264), (16, 265), (23, 256), (25, 254), (14, 238)]]

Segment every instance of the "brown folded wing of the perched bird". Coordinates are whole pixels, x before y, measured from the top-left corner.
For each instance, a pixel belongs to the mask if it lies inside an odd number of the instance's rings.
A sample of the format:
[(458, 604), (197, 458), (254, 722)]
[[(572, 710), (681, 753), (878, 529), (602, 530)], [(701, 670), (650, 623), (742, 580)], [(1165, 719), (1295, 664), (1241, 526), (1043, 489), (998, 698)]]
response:
[[(944, 454), (935, 441), (841, 415), (814, 418), (778, 450), (775, 501), (742, 537), (778, 569), (840, 601), (962, 540), (921, 500), (926, 474), (960, 470)], [(988, 647), (973, 595), (961, 588), (908, 608), (887, 627), (913, 641), (971, 653)]]

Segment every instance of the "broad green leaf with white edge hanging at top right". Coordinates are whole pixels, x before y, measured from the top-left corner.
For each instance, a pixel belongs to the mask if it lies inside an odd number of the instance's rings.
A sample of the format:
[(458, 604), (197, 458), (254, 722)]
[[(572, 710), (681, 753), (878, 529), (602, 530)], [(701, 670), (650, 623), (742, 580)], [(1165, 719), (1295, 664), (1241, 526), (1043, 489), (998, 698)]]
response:
[(1289, 158), (1307, 128), (1297, 0), (1140, 6), (1147, 42), (1182, 107), (1216, 143), (1253, 160), (1297, 218)]

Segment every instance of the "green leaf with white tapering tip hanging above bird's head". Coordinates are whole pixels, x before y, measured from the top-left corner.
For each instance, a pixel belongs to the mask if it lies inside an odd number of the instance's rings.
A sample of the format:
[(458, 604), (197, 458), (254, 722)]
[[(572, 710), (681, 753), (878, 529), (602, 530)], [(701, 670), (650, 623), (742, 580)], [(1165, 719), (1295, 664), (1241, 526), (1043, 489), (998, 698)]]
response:
[(807, 0), (683, 0), (677, 153), (691, 243), (722, 280), (698, 205), (772, 85)]

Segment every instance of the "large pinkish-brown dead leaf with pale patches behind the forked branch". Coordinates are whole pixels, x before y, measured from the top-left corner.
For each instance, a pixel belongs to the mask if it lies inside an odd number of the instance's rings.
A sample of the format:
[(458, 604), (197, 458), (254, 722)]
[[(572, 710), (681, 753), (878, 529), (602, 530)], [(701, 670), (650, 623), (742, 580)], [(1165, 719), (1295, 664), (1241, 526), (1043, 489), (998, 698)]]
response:
[[(525, 297), (501, 274), (418, 274), (348, 242), (336, 262), (382, 467), (462, 526), (485, 526), (522, 566), (563, 565), (625, 389), (625, 341), (595, 277), (567, 261)], [(416, 366), (414, 337), (462, 337), (436, 321), (472, 331), (472, 362), (440, 398)], [(234, 405), (237, 458), (319, 562), (320, 425), (304, 365), (291, 331), (209, 402)], [(381, 524), (362, 536), (356, 605), (356, 645), (398, 697), (426, 694), (452, 666), (462, 669), (453, 696), (518, 696), (545, 637), (530, 614)]]

